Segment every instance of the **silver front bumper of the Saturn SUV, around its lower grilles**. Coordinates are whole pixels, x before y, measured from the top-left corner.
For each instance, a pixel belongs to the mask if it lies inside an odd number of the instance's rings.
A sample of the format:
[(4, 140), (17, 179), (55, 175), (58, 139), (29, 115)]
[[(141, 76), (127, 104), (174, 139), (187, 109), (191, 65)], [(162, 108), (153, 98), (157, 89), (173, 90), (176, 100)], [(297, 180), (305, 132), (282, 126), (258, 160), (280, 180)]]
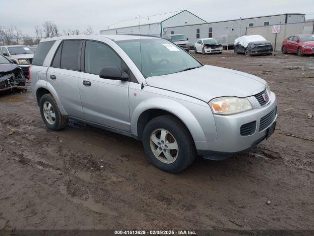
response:
[[(217, 139), (214, 141), (195, 142), (197, 152), (206, 159), (221, 160), (235, 153), (254, 148), (266, 138), (267, 129), (276, 121), (277, 114), (269, 124), (260, 131), (261, 118), (271, 113), (277, 107), (276, 95), (271, 92), (270, 101), (261, 106), (254, 96), (248, 97), (253, 110), (231, 116), (214, 115)], [(241, 136), (243, 124), (256, 121), (256, 129), (252, 135)]]

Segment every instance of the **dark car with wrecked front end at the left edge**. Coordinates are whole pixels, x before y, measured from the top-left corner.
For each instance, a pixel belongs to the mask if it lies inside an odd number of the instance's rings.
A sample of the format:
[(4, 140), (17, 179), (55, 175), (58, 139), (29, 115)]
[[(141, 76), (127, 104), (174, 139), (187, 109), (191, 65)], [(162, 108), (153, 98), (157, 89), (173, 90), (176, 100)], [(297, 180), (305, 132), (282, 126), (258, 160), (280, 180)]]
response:
[(13, 89), (26, 90), (22, 68), (0, 54), (0, 92)]

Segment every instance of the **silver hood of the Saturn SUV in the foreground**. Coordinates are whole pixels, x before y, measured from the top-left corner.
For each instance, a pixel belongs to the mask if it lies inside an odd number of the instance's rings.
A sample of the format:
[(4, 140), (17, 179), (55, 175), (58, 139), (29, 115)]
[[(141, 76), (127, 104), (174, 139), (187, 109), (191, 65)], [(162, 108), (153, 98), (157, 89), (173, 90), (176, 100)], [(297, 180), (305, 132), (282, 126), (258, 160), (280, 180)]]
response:
[(209, 102), (215, 97), (248, 97), (265, 88), (257, 76), (217, 66), (200, 68), (169, 75), (146, 78), (149, 86), (167, 89)]

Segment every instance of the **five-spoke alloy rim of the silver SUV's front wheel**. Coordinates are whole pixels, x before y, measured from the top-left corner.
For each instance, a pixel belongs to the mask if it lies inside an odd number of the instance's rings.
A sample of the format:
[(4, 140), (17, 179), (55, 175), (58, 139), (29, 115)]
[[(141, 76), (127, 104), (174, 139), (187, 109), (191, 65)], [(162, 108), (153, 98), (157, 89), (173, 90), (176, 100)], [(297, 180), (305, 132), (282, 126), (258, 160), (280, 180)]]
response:
[(152, 132), (150, 147), (155, 157), (163, 163), (171, 164), (178, 158), (178, 142), (166, 129), (159, 128)]

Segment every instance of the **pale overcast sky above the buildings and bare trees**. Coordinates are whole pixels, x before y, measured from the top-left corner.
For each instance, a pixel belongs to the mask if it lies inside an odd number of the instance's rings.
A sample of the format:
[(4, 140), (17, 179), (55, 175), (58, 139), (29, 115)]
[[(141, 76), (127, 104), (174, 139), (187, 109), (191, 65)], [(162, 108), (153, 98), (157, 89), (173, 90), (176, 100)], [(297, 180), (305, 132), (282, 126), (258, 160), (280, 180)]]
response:
[(281, 13), (305, 13), (314, 18), (314, 0), (0, 0), (0, 26), (16, 26), (35, 36), (34, 26), (52, 21), (63, 29), (94, 33), (122, 20), (177, 10), (202, 19), (222, 21)]

